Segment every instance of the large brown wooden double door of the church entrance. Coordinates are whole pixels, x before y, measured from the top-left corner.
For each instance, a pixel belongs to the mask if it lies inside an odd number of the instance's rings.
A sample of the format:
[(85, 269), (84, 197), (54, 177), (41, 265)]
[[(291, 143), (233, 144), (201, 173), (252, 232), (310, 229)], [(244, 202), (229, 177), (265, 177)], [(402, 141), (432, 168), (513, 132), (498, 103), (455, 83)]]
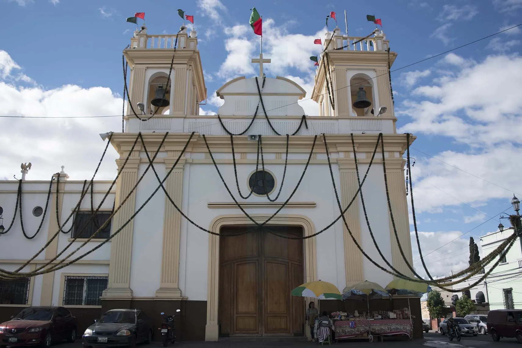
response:
[[(302, 227), (270, 226), (301, 237)], [(304, 283), (303, 241), (246, 227), (223, 227), (220, 237), (219, 328), (228, 336), (302, 336), (305, 306), (292, 296)]]

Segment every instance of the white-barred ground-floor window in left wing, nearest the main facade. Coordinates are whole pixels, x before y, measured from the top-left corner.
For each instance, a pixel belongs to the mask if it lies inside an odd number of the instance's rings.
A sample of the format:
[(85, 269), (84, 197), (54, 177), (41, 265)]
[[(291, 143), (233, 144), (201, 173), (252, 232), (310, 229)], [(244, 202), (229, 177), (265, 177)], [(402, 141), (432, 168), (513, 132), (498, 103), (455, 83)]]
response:
[(108, 277), (66, 276), (64, 306), (101, 306), (101, 294), (107, 289)]

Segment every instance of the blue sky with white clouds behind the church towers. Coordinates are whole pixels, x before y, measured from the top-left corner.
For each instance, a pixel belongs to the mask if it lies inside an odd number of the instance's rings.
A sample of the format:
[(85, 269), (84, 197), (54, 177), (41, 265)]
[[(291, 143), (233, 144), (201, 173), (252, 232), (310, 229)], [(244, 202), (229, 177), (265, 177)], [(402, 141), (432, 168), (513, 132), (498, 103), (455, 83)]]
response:
[[(392, 69), (522, 22), (522, 0), (248, 4), (199, 0), (183, 5), (165, 0), (0, 0), (0, 5), (3, 25), (8, 28), (0, 45), (0, 102), (4, 105), (0, 116), (120, 114), (121, 54), (135, 29), (125, 18), (135, 12), (145, 12), (148, 33), (153, 34), (179, 30), (182, 20), (177, 8), (194, 15), (208, 89), (209, 103), (202, 106), (205, 112), (217, 111), (215, 91), (228, 79), (254, 76), (256, 70), (249, 58), (258, 54), (258, 40), (248, 27), (253, 6), (265, 23), (265, 57), (272, 59), (272, 64), (265, 66), (267, 75), (295, 79), (307, 90), (307, 96), (315, 71), (307, 59), (319, 51), (313, 39), (324, 37), (325, 17), (330, 11), (336, 11), (344, 32), (343, 11), (347, 10), (351, 36), (365, 36), (375, 28), (366, 21), (367, 14), (381, 18), (390, 47), (398, 53)], [(520, 28), (392, 74), (399, 132), (409, 131), (418, 137), (411, 154), (417, 162), (414, 197), (424, 253), (506, 209), (510, 212), (513, 193), (522, 198), (516, 175), (522, 165), (513, 161), (522, 154), (516, 136), (522, 130)], [(314, 107), (306, 103), (305, 110), (313, 115)], [(20, 156), (34, 156), (35, 148), (46, 148), (46, 153), (64, 159), (73, 148), (92, 145), (101, 151), (97, 134), (118, 129), (118, 122), (0, 117), (0, 124), (8, 130), (3, 144), (18, 143), (16, 151), (0, 154), (4, 163), (12, 163), (0, 169), (0, 176), (11, 178)], [(64, 135), (60, 129), (70, 132)], [(35, 135), (42, 132), (54, 132), (54, 140), (38, 140)], [(20, 142), (28, 134), (35, 140)], [(68, 141), (77, 143), (70, 145)], [(86, 153), (89, 164), (96, 165), (99, 151)], [(43, 153), (32, 162), (39, 163), (31, 172), (32, 179), (45, 179), (60, 165)], [(69, 175), (75, 174), (72, 178), (89, 176), (88, 170), (74, 168), (74, 159), (68, 163), (72, 166)], [(112, 163), (103, 170), (105, 177), (114, 175)], [(503, 223), (507, 225), (506, 220)], [(492, 219), (427, 256), (433, 273), (442, 275), (463, 268), (469, 236), (478, 239), (496, 230), (498, 224), (497, 218)], [(459, 252), (462, 248), (465, 255)], [(421, 268), (420, 262), (416, 266)]]

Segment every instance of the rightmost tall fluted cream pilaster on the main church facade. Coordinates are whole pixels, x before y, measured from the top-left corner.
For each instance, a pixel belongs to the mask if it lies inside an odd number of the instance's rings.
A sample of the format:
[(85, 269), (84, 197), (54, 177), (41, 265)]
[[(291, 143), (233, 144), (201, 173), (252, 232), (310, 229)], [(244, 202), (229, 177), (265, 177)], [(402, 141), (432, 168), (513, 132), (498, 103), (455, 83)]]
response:
[[(410, 222), (408, 218), (408, 202), (406, 196), (406, 185), (404, 177), (404, 163), (402, 158), (388, 158), (386, 160), (386, 177), (388, 179), (388, 191), (390, 195), (390, 203), (399, 236), (399, 242), (402, 251), (410, 265), (413, 265), (413, 256), (411, 254), (411, 238), (410, 238)], [(390, 238), (392, 240), (392, 264), (402, 274), (413, 276), (413, 273), (406, 265), (404, 258), (400, 255), (399, 245), (393, 229), (392, 219), (389, 217)]]

